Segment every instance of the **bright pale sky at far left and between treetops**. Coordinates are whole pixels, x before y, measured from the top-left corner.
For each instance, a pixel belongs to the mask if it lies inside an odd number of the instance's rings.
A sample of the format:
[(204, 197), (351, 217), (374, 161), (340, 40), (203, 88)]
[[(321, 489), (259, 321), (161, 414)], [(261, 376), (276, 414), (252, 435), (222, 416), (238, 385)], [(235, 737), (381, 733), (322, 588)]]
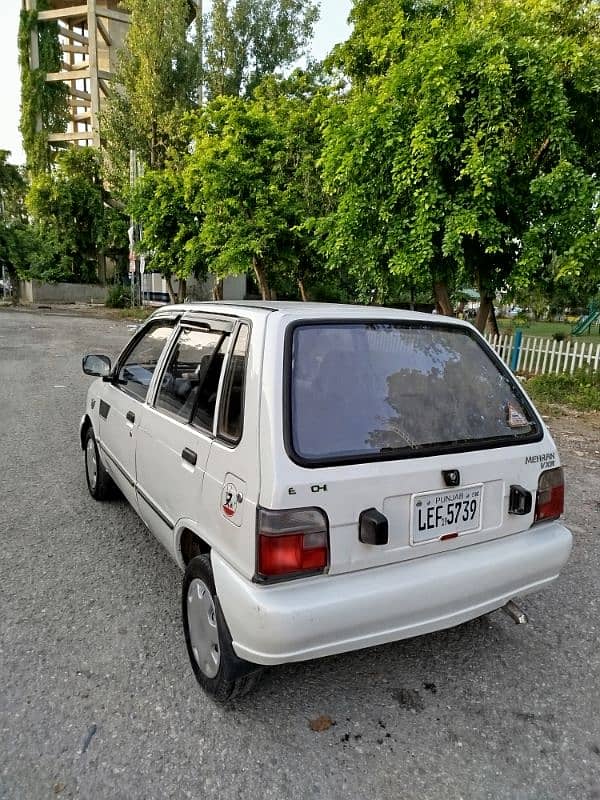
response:
[[(349, 33), (352, 0), (321, 0), (321, 18), (315, 28), (312, 55), (323, 58)], [(0, 0), (0, 150), (10, 150), (11, 162), (25, 160), (19, 133), (20, 78), (17, 63), (17, 29), (21, 0)]]

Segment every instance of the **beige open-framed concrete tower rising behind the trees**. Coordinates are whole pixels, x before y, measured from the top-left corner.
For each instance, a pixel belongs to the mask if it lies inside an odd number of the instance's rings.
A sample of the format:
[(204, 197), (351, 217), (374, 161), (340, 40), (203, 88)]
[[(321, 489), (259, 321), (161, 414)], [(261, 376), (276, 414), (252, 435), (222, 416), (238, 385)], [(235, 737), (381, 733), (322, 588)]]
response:
[[(37, 0), (22, 0), (23, 8), (35, 11)], [(48, 72), (46, 81), (63, 81), (68, 89), (70, 120), (63, 133), (49, 133), (54, 146), (86, 144), (100, 147), (100, 112), (111, 91), (118, 51), (129, 26), (129, 14), (119, 0), (74, 3), (50, 0), (37, 14), (37, 25), (57, 22), (61, 48), (61, 69)], [(38, 69), (37, 30), (31, 32), (29, 66)], [(41, 126), (41, 121), (40, 121)]]

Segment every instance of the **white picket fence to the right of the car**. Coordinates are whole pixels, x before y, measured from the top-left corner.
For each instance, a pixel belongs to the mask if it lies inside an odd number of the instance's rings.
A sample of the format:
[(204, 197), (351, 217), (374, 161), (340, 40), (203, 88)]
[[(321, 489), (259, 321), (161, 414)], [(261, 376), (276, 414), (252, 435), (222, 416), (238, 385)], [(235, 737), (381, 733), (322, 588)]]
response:
[[(504, 363), (510, 366), (514, 335), (486, 334), (485, 338)], [(573, 374), (581, 367), (600, 369), (600, 344), (577, 339), (557, 342), (540, 336), (523, 336), (515, 371), (526, 375)]]

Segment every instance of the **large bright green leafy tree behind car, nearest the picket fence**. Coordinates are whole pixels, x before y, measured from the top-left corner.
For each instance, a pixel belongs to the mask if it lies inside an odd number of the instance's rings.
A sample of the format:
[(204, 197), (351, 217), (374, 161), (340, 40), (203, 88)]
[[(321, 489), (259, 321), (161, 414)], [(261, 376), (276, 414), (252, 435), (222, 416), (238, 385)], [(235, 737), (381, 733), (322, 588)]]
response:
[(480, 329), (507, 282), (553, 259), (588, 268), (597, 5), (360, 0), (353, 18), (333, 57), (353, 86), (331, 112), (323, 156), (331, 263), (381, 300), (397, 280), (427, 281), (446, 313), (450, 289), (474, 284)]

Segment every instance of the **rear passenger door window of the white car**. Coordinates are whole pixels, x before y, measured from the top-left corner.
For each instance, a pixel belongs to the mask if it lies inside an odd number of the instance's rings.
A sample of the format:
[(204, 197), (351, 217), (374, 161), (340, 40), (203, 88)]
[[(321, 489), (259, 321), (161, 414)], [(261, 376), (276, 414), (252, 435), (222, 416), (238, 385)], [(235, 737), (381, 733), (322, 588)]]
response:
[[(225, 334), (215, 331), (194, 328), (181, 331), (162, 377), (156, 408), (189, 422), (196, 403), (202, 402), (207, 381), (210, 394), (213, 393), (215, 353), (224, 338)], [(212, 428), (210, 417), (206, 422), (204, 427)]]

